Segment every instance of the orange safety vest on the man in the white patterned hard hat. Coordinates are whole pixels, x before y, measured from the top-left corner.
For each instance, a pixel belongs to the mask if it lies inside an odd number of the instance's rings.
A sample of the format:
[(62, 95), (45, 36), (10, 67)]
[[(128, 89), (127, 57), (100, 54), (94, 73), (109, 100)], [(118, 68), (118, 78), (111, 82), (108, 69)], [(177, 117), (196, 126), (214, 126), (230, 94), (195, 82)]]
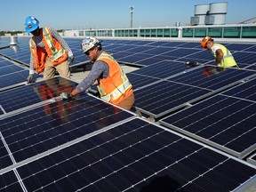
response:
[(107, 52), (101, 52), (96, 61), (98, 60), (106, 62), (109, 68), (108, 77), (99, 78), (100, 98), (117, 105), (132, 94), (132, 84), (116, 60)]

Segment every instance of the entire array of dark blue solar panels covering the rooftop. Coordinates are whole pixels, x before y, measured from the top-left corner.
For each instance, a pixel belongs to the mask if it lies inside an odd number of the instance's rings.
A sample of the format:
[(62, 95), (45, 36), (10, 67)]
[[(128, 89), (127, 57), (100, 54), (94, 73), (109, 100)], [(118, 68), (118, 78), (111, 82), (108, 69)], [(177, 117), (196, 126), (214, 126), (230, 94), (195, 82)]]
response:
[[(86, 59), (81, 40), (67, 42), (74, 65), (80, 65)], [(108, 39), (102, 44), (118, 61), (140, 67), (127, 76), (142, 118), (86, 93), (61, 100), (60, 92), (76, 87), (61, 77), (21, 84), (17, 74), (24, 81), (28, 69), (12, 60), (27, 60), (22, 55), (29, 55), (28, 42), (13, 55), (11, 48), (0, 50), (0, 78), (6, 80), (0, 92), (0, 191), (255, 187), (256, 74), (246, 69), (255, 63), (245, 60), (255, 51), (253, 44), (226, 44), (244, 66), (226, 70), (185, 66), (188, 60), (212, 64), (212, 54), (196, 43)]]

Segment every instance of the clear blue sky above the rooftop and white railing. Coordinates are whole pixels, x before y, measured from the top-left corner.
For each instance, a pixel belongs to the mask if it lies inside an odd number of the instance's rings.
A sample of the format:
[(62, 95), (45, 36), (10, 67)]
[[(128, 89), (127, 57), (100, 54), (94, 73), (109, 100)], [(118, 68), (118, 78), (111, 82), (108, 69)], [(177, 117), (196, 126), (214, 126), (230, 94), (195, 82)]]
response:
[[(255, 0), (4, 0), (0, 7), (0, 31), (25, 30), (24, 21), (34, 16), (40, 27), (54, 29), (185, 26), (194, 16), (195, 5), (228, 2), (227, 24), (256, 17)], [(252, 23), (251, 20), (249, 22)]]

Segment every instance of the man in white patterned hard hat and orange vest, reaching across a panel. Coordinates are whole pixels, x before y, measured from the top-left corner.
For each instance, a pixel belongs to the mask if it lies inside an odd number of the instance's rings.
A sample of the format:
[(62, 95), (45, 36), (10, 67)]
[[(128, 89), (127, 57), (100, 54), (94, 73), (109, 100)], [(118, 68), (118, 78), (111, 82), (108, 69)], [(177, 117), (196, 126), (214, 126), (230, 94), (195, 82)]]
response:
[(62, 92), (61, 98), (73, 98), (79, 92), (86, 91), (97, 80), (102, 100), (130, 110), (135, 100), (132, 84), (116, 60), (102, 51), (100, 41), (94, 36), (86, 37), (81, 49), (88, 60), (92, 61), (92, 70), (72, 92)]

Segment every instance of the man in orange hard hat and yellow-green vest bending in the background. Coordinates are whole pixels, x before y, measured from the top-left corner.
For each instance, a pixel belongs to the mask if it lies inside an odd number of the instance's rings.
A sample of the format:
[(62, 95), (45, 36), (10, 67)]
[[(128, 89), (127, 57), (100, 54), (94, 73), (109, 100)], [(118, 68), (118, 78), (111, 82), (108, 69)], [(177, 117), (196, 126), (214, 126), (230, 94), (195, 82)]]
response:
[(201, 41), (203, 49), (210, 50), (215, 57), (215, 64), (222, 68), (238, 68), (236, 60), (222, 44), (216, 44), (211, 36), (205, 36)]

